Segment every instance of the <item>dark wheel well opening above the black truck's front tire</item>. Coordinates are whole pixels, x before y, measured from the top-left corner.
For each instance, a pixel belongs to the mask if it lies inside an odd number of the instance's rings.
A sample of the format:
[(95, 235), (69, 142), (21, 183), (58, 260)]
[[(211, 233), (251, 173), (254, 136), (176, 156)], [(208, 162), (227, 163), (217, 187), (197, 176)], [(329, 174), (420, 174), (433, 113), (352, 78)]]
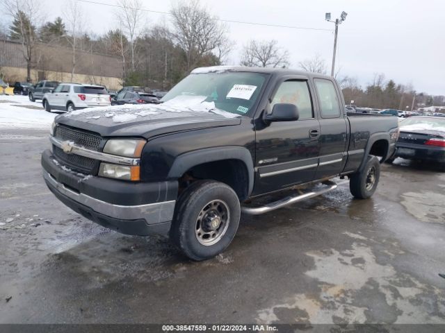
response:
[(241, 160), (222, 160), (197, 164), (179, 178), (179, 191), (190, 185), (194, 180), (201, 179), (224, 182), (234, 189), (241, 201), (248, 198), (248, 170)]

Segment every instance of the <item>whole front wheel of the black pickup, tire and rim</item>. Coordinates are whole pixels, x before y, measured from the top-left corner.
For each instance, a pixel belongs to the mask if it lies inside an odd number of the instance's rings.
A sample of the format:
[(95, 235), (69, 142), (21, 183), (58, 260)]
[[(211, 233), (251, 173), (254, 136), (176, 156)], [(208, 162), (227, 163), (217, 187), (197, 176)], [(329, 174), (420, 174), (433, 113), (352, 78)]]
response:
[(215, 257), (238, 230), (241, 207), (235, 191), (213, 180), (198, 180), (181, 194), (170, 239), (193, 260)]

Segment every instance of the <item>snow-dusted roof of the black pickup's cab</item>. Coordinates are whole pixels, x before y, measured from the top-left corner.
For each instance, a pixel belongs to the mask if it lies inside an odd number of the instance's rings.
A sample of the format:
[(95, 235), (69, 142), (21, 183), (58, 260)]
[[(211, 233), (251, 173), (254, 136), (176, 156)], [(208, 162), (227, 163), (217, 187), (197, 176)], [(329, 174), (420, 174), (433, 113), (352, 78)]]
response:
[(307, 71), (298, 71), (296, 69), (289, 68), (274, 68), (274, 67), (245, 67), (245, 66), (211, 66), (211, 67), (198, 67), (191, 71), (191, 74), (203, 74), (203, 73), (223, 73), (225, 71), (248, 71), (252, 73), (264, 73), (264, 74), (280, 74), (280, 75), (303, 75), (303, 76), (316, 76), (320, 78), (332, 79), (332, 76), (327, 76), (317, 73), (309, 73)]

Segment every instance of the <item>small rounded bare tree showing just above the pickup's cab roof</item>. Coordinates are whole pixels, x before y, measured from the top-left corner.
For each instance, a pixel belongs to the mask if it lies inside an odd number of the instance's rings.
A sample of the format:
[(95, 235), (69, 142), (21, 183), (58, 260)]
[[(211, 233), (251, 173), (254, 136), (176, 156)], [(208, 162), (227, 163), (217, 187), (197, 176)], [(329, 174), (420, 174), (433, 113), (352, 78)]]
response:
[(241, 65), (248, 67), (289, 67), (289, 51), (276, 40), (250, 40), (243, 46)]

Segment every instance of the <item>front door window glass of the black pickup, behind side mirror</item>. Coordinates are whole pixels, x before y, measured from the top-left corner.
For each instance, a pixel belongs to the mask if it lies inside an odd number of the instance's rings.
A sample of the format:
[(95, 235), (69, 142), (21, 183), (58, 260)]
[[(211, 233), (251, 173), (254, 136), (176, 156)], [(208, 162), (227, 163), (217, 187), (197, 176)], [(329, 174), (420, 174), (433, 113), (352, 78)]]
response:
[(296, 105), (300, 113), (299, 120), (314, 118), (307, 81), (284, 81), (277, 89), (275, 96), (273, 96), (272, 102), (270, 103), (270, 112), (272, 112), (273, 105), (277, 103), (291, 103)]

